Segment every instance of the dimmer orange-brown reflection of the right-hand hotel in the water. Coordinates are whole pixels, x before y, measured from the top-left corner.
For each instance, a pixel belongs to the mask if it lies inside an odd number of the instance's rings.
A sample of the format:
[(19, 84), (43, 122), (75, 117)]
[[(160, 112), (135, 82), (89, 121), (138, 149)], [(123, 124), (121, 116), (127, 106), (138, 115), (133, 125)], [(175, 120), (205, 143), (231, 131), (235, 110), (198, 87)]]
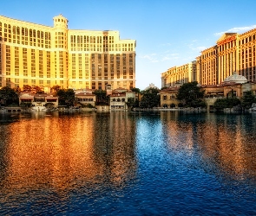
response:
[(169, 149), (182, 150), (187, 156), (200, 153), (200, 162), (207, 169), (215, 167), (217, 175), (222, 171), (237, 180), (256, 180), (256, 124), (251, 116), (202, 117), (163, 112), (161, 119), (165, 122)]

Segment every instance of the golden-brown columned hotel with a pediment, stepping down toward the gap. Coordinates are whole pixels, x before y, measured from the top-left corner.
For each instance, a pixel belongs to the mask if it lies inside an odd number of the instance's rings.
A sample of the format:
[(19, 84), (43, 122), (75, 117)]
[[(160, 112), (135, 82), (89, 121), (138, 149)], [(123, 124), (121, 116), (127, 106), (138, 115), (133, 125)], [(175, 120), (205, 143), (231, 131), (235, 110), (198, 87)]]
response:
[[(161, 73), (161, 87), (174, 86), (174, 81), (190, 82), (193, 78), (201, 85), (220, 85), (234, 72), (256, 81), (256, 29), (239, 35), (226, 33), (211, 48), (201, 51), (196, 58), (195, 73), (181, 73), (172, 67)], [(186, 66), (186, 65), (185, 65)]]

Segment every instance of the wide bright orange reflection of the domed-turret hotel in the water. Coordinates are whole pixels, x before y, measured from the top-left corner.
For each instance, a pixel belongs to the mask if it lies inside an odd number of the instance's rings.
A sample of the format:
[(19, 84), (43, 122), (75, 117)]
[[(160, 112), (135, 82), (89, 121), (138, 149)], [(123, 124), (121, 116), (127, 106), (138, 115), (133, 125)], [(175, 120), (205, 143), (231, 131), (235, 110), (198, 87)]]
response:
[(135, 123), (123, 112), (35, 116), (0, 128), (2, 194), (121, 187), (135, 177)]

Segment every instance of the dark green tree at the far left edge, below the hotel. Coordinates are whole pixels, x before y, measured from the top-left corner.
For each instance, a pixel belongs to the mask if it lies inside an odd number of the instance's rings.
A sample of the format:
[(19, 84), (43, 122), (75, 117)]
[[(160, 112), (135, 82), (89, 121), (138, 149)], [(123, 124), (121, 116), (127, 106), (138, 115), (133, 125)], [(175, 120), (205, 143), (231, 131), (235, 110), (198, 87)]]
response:
[(0, 89), (0, 100), (3, 102), (3, 105), (18, 105), (18, 94), (15, 89), (10, 88), (9, 86), (4, 86)]

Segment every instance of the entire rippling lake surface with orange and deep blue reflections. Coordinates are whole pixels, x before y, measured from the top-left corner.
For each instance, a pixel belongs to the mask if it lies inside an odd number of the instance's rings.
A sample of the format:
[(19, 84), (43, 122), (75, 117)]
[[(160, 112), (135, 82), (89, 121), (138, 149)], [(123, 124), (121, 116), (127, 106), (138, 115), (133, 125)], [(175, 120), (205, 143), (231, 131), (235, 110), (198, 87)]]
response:
[(256, 114), (0, 114), (0, 215), (255, 215)]

